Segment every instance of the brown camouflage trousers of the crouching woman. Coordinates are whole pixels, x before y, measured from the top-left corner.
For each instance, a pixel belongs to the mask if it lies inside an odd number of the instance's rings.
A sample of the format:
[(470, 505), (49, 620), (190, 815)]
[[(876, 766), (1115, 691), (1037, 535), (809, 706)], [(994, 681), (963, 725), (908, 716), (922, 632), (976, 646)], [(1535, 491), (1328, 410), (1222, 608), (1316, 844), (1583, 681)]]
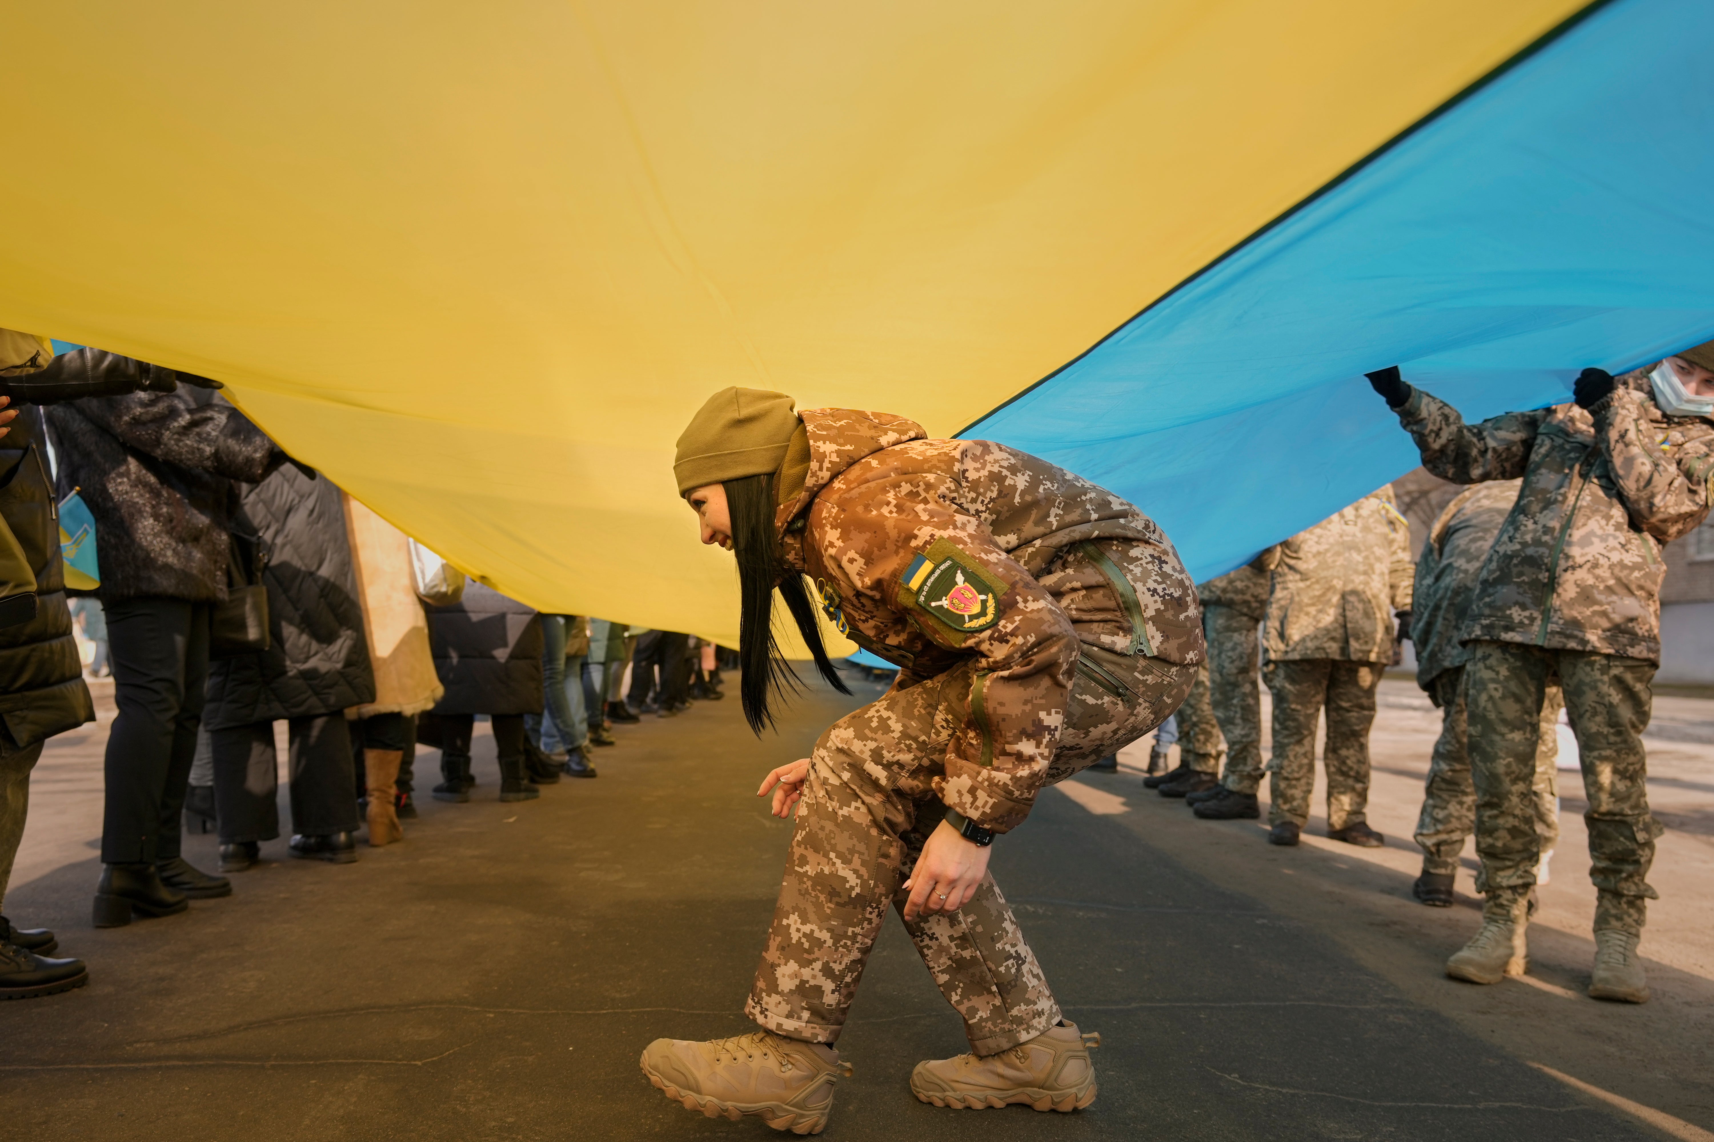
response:
[[(1160, 659), (1085, 652), (1118, 675), (1126, 693), (1078, 669), (1049, 782), (1159, 726), (1195, 675)], [(960, 666), (891, 690), (816, 743), (768, 947), (744, 1007), (768, 1031), (838, 1039), (886, 909), (903, 919), (903, 883), (946, 815), (932, 779), (968, 714), (972, 673)], [(926, 913), (905, 930), (977, 1055), (998, 1055), (1059, 1022), (1042, 967), (992, 877), (956, 913)]]

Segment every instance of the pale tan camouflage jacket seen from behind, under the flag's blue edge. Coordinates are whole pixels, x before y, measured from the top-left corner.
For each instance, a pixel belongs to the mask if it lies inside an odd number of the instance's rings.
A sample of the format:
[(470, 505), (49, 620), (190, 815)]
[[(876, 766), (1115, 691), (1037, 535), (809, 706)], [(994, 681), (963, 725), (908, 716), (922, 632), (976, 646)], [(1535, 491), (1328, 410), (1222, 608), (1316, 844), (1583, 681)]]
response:
[(1262, 647), (1268, 661), (1390, 663), (1393, 611), (1411, 606), (1411, 527), (1392, 486), (1299, 531), (1258, 558), (1272, 572)]

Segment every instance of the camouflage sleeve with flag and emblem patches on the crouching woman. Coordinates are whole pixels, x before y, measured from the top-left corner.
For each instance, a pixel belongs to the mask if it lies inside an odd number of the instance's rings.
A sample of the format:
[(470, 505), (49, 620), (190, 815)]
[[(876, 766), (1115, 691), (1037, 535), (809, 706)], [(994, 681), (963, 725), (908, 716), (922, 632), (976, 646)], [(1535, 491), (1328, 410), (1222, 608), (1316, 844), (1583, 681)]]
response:
[[(1076, 632), (977, 517), (915, 491), (895, 486), (886, 498), (893, 515), (864, 514), (840, 526), (845, 565), (862, 565), (854, 577), (860, 591), (879, 594), (932, 642), (975, 659), (968, 692), (948, 695), (960, 724), (936, 788), (948, 808), (1006, 832), (1028, 815), (1054, 757)], [(867, 550), (854, 551), (859, 543)]]

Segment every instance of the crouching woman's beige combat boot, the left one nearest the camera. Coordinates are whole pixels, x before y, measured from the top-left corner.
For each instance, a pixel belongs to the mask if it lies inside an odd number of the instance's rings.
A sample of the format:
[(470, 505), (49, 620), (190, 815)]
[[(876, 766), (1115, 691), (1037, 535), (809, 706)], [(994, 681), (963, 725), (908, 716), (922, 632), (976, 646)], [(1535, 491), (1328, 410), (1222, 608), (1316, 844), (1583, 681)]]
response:
[(641, 1062), (648, 1080), (684, 1109), (732, 1121), (759, 1115), (775, 1130), (792, 1133), (821, 1133), (833, 1106), (833, 1084), (852, 1072), (831, 1046), (771, 1031), (710, 1043), (655, 1039)]

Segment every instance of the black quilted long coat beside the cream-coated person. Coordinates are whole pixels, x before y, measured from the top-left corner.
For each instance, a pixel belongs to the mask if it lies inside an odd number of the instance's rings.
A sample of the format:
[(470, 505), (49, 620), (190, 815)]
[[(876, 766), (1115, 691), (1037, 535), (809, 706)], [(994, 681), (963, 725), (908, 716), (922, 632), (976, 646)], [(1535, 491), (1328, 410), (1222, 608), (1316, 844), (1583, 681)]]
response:
[(269, 548), (273, 645), (209, 668), (209, 729), (336, 714), (375, 700), (339, 490), (286, 464), (243, 488), (233, 531)]

